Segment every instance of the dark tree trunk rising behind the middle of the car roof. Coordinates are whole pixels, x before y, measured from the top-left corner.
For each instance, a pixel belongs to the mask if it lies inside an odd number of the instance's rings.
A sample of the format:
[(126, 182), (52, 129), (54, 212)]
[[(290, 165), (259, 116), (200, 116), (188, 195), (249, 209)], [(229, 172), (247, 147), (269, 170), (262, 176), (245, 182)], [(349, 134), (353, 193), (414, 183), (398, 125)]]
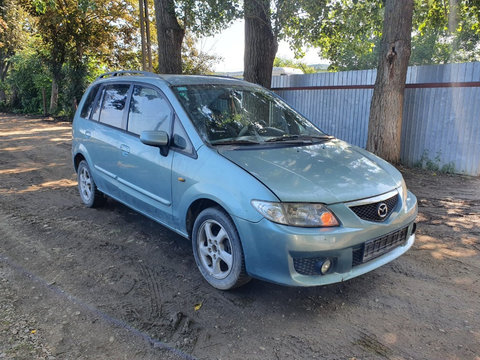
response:
[(178, 24), (173, 0), (155, 0), (158, 38), (158, 71), (182, 73), (182, 42), (185, 30)]

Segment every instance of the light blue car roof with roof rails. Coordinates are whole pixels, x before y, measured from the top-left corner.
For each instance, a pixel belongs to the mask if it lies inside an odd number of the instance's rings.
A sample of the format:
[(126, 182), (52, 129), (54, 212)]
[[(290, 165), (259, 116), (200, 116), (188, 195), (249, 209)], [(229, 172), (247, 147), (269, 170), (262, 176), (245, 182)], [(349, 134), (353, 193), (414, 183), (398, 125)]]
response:
[(172, 86), (181, 85), (207, 85), (207, 84), (222, 84), (222, 85), (251, 85), (246, 81), (218, 75), (172, 75), (172, 74), (155, 74), (146, 71), (114, 71), (100, 75), (96, 81), (158, 81), (163, 80)]

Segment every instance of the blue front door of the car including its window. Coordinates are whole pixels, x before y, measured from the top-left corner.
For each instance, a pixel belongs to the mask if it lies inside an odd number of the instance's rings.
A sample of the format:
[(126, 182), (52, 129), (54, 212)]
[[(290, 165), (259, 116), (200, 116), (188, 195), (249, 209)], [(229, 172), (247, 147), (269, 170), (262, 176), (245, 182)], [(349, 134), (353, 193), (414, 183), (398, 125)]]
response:
[(122, 199), (131, 207), (165, 224), (171, 223), (173, 152), (162, 155), (158, 147), (145, 145), (140, 134), (145, 130), (172, 133), (174, 112), (163, 93), (149, 85), (133, 87), (128, 111), (127, 131), (118, 138), (120, 157), (118, 181)]

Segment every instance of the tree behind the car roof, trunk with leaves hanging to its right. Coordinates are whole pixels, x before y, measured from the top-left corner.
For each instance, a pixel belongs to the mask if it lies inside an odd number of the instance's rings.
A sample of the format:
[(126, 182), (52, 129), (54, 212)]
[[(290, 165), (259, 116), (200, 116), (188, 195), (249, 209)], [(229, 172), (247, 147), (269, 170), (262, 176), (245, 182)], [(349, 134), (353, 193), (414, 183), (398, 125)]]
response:
[(182, 72), (185, 33), (208, 36), (240, 15), (238, 0), (154, 0), (158, 38), (158, 71)]

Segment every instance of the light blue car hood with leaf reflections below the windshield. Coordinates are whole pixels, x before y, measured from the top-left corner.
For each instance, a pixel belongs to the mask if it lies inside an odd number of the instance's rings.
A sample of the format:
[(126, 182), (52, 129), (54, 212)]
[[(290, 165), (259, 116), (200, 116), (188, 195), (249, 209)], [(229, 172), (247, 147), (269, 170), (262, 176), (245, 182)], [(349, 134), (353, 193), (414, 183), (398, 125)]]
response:
[(402, 180), (389, 163), (338, 139), (306, 146), (218, 151), (285, 202), (353, 201), (391, 191)]

